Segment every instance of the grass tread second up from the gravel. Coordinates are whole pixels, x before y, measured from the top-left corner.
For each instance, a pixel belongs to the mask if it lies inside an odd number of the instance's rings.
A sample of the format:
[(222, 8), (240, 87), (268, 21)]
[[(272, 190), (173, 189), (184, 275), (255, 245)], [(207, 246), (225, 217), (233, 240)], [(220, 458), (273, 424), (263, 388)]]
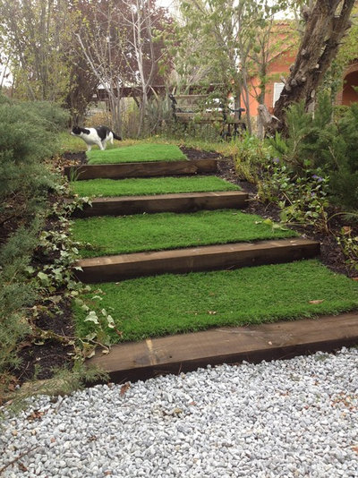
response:
[(237, 209), (76, 219), (72, 227), (75, 241), (90, 243), (80, 249), (81, 257), (294, 236), (292, 230), (273, 229), (260, 216)]

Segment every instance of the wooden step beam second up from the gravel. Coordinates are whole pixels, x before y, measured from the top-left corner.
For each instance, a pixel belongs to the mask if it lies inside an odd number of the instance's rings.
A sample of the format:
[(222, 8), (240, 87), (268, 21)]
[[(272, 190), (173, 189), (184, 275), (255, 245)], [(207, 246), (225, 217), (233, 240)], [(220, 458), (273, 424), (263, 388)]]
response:
[(193, 271), (277, 264), (311, 259), (319, 254), (320, 243), (300, 239), (203, 246), (80, 260), (78, 265), (82, 271), (76, 271), (76, 276), (82, 282), (90, 284), (167, 273), (186, 274)]

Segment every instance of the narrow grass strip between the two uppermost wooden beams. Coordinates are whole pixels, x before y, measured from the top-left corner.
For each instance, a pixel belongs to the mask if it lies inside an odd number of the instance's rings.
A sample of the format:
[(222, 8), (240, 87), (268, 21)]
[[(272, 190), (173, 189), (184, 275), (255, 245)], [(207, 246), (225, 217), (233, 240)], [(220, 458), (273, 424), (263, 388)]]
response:
[(72, 191), (80, 196), (111, 197), (167, 194), (171, 192), (240, 191), (240, 187), (217, 176), (90, 179), (74, 181)]

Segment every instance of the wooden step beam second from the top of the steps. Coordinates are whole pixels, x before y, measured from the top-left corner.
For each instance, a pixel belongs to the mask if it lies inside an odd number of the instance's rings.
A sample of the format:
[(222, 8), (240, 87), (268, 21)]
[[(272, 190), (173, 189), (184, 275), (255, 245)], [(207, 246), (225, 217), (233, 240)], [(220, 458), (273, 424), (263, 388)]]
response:
[(201, 209), (243, 209), (248, 194), (209, 193), (171, 194), (141, 198), (103, 198), (92, 201), (91, 206), (73, 212), (73, 218), (95, 216), (125, 216), (130, 214), (154, 214), (158, 212), (194, 212)]

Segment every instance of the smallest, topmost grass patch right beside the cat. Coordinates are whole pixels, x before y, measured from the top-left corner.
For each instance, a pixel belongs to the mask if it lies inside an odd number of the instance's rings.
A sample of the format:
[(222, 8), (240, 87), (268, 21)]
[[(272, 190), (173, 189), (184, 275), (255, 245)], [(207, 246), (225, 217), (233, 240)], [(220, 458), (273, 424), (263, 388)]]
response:
[(86, 153), (90, 165), (135, 163), (142, 161), (180, 161), (187, 159), (174, 144), (137, 144), (121, 148), (93, 149)]

